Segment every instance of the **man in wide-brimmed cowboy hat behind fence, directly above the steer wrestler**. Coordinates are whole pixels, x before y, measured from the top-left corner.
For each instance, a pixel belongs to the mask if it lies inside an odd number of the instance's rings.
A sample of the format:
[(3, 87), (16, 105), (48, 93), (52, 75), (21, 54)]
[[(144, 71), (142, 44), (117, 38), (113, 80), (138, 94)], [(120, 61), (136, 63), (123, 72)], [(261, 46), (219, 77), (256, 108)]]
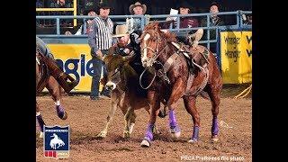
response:
[[(147, 11), (146, 4), (140, 4), (139, 2), (136, 2), (135, 4), (131, 4), (129, 7), (130, 14), (133, 15), (144, 15)], [(134, 18), (133, 20), (133, 29), (135, 31), (140, 31), (141, 29), (141, 19), (140, 18)]]

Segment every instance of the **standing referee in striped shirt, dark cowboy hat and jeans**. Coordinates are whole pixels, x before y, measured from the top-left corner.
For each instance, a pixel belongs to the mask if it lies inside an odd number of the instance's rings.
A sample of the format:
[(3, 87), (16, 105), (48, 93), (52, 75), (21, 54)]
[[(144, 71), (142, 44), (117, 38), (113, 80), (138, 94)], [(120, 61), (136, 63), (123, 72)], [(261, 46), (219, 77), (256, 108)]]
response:
[[(108, 15), (110, 14), (110, 6), (102, 3), (99, 6), (99, 17), (94, 18), (89, 25), (88, 44), (91, 48), (93, 76), (91, 85), (91, 100), (100, 99), (99, 81), (103, 67), (103, 77), (107, 76), (107, 69), (102, 60), (103, 55), (108, 53), (108, 49), (112, 46), (112, 29), (113, 23)], [(103, 87), (103, 95), (109, 96), (110, 92)]]

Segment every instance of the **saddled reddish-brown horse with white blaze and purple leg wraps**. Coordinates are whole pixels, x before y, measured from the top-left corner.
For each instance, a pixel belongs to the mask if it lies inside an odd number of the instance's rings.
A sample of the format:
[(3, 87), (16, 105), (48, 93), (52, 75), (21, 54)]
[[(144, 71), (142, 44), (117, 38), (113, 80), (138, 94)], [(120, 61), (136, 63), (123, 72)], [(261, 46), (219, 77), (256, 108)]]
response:
[[(169, 31), (163, 32), (158, 23), (148, 24), (141, 35), (141, 62), (143, 67), (152, 68), (152, 80), (148, 88), (148, 101), (152, 111), (142, 147), (149, 147), (153, 139), (153, 129), (156, 122), (159, 101), (166, 100), (169, 109), (170, 134), (173, 138), (180, 137), (180, 127), (175, 118), (175, 103), (183, 98), (186, 111), (193, 118), (193, 135), (188, 142), (199, 140), (200, 116), (195, 102), (198, 94), (205, 92), (211, 99), (213, 115), (211, 126), (212, 141), (218, 140), (218, 121), (220, 90), (222, 79), (216, 58), (210, 50), (203, 46), (198, 49), (186, 48), (191, 53), (184, 52), (174, 46), (175, 35)], [(201, 51), (201, 52), (199, 52)], [(205, 55), (202, 51), (206, 51)], [(151, 71), (151, 70), (150, 70)]]

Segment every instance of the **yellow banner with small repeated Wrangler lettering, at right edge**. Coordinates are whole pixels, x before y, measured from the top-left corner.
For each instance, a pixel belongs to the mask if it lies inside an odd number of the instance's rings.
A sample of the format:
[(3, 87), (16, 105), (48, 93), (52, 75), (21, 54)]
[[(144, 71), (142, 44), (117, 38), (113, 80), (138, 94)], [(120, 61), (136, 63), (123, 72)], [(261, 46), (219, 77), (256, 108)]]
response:
[(223, 82), (252, 82), (252, 31), (221, 31), (220, 58)]

